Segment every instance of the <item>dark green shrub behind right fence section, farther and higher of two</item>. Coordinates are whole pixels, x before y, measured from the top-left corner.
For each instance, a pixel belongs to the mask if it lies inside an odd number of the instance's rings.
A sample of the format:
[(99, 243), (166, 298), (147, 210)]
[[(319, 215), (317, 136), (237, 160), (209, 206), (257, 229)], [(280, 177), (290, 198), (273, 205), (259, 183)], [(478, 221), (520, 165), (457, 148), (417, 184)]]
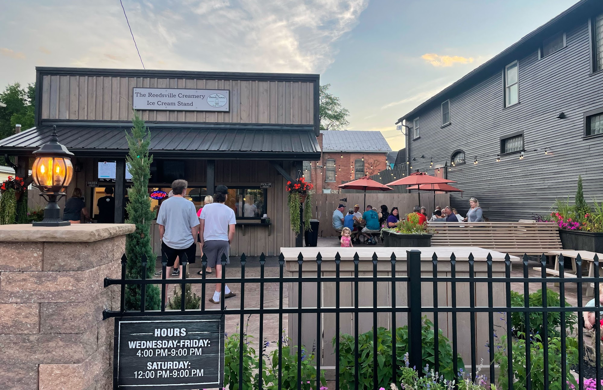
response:
[[(529, 294), (528, 296), (529, 306), (531, 308), (542, 307), (542, 289)], [(511, 306), (514, 308), (523, 308), (523, 294), (511, 291)], [(572, 306), (569, 303), (565, 303), (566, 306)], [(555, 293), (550, 289), (546, 290), (546, 306), (549, 308), (560, 307), (559, 294)], [(573, 327), (578, 323), (578, 317), (575, 313), (566, 313), (566, 329), (569, 329), (573, 333)], [(511, 313), (511, 324), (513, 326), (513, 334), (516, 337), (519, 335), (525, 335), (525, 317), (523, 313)], [(548, 332), (551, 337), (559, 337), (561, 331), (561, 313), (560, 312), (549, 312), (548, 313)], [(529, 334), (536, 335), (543, 331), (543, 312), (531, 312), (529, 314)]]

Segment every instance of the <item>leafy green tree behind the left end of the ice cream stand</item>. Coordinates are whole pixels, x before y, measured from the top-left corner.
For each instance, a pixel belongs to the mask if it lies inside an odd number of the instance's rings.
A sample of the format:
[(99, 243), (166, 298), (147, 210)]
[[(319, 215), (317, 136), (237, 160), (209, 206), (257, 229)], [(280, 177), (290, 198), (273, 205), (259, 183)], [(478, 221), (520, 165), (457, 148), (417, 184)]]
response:
[(28, 84), (27, 88), (23, 88), (19, 82), (15, 82), (0, 93), (0, 102), (6, 105), (0, 108), (0, 139), (12, 135), (17, 123), (23, 129), (34, 126), (35, 98), (35, 84)]

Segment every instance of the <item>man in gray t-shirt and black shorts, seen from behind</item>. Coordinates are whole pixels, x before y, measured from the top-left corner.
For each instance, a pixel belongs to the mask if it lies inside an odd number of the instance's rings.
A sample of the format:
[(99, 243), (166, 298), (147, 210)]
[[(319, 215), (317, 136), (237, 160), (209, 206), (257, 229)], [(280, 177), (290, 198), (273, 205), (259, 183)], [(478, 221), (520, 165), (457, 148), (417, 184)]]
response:
[[(168, 268), (174, 265), (176, 258), (180, 258), (182, 264), (183, 255), (186, 255), (189, 264), (195, 262), (199, 220), (194, 203), (183, 197), (187, 187), (186, 180), (172, 182), (174, 196), (163, 201), (157, 215), (161, 252), (168, 261)], [(166, 277), (169, 275), (166, 272)]]

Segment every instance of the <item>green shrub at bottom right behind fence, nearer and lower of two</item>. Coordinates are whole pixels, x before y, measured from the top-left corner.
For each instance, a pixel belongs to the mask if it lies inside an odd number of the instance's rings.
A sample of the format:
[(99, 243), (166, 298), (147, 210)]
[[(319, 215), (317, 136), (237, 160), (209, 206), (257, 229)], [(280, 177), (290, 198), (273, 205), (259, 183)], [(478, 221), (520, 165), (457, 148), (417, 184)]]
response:
[[(513, 378), (514, 388), (525, 389), (528, 373), (532, 383), (532, 390), (544, 390), (545, 382), (548, 383), (548, 388), (551, 390), (561, 389), (561, 381), (567, 381), (578, 387), (576, 380), (570, 373), (570, 367), (578, 363), (578, 340), (575, 338), (566, 338), (566, 350), (561, 350), (561, 339), (558, 337), (549, 338), (549, 377), (545, 379), (545, 350), (543, 347), (542, 338), (540, 335), (535, 335), (530, 342), (530, 368), (526, 369), (526, 348), (525, 335), (520, 333), (520, 339), (513, 338)], [(499, 364), (500, 371), (498, 384), (500, 388), (507, 389), (508, 378), (508, 351), (507, 336), (502, 336), (500, 342), (496, 344), (494, 352), (494, 363)], [(566, 377), (561, 377), (561, 354), (566, 354)], [(567, 386), (569, 388), (569, 386)]]

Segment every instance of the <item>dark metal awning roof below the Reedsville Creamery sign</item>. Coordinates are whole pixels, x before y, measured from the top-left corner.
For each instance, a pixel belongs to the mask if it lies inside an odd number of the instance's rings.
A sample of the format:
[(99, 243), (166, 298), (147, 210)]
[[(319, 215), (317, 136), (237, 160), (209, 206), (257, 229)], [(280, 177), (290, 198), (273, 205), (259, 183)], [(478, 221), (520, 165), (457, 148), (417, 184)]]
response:
[[(131, 126), (57, 125), (58, 141), (76, 156), (124, 156)], [(319, 159), (312, 129), (225, 129), (149, 126), (155, 156), (238, 159)], [(29, 155), (50, 140), (43, 125), (0, 140), (0, 153)]]

